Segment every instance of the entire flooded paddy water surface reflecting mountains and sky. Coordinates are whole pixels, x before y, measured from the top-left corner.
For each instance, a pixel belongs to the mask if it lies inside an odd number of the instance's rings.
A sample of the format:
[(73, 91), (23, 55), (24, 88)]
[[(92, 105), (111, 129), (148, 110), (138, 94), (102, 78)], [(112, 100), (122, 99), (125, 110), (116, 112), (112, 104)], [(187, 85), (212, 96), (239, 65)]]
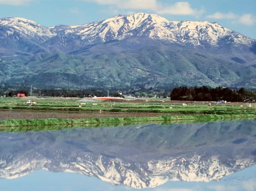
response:
[(0, 190), (256, 189), (256, 120), (0, 133)]

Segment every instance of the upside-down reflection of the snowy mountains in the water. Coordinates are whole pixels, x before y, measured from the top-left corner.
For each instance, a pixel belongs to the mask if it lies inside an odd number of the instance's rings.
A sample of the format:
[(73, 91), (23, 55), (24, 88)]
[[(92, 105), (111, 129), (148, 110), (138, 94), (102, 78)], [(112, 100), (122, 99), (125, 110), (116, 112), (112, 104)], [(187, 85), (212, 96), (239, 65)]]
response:
[(38, 169), (117, 185), (219, 180), (255, 164), (256, 120), (0, 133), (0, 178)]

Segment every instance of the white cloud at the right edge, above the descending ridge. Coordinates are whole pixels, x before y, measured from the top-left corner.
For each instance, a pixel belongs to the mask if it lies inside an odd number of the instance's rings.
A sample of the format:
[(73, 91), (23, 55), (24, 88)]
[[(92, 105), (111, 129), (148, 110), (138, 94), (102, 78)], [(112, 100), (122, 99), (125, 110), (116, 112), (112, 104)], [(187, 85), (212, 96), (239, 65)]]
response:
[(216, 12), (213, 15), (207, 15), (207, 18), (214, 19), (229, 19), (232, 20), (233, 24), (240, 23), (243, 25), (252, 26), (256, 23), (256, 16), (252, 14), (235, 15), (234, 13), (220, 13)]

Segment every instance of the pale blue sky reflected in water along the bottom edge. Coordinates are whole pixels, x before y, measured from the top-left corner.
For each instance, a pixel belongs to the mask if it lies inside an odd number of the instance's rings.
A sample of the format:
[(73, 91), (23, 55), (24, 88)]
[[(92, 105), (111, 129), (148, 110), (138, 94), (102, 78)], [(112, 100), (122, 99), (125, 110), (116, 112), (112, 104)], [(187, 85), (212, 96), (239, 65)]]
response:
[[(256, 166), (224, 176), (220, 181), (169, 181), (141, 191), (255, 191)], [(14, 179), (0, 179), (0, 191), (139, 191), (128, 186), (114, 186), (95, 177), (76, 173), (52, 173), (38, 170)]]

